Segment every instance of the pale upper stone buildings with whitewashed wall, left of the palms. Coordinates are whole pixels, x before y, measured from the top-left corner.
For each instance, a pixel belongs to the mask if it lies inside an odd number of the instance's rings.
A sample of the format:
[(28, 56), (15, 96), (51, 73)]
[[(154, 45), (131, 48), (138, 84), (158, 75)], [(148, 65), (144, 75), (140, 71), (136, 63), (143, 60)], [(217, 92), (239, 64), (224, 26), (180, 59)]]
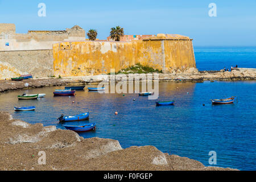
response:
[(28, 31), (16, 34), (15, 24), (0, 23), (0, 51), (52, 49), (52, 44), (64, 41), (84, 41), (85, 31), (79, 26), (60, 31)]

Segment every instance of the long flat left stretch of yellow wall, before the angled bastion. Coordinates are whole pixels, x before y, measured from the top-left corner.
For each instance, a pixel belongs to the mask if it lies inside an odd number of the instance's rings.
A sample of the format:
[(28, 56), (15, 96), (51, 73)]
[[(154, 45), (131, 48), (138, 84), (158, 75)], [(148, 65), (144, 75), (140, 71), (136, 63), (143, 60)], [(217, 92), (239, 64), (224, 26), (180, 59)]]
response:
[(136, 42), (64, 42), (53, 45), (55, 75), (85, 76), (136, 63)]

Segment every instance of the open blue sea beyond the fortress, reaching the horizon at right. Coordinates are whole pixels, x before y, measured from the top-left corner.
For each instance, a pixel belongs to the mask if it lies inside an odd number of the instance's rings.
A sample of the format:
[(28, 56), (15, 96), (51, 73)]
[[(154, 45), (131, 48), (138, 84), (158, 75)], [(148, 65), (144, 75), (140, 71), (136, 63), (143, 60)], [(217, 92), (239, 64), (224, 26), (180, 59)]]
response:
[(194, 47), (199, 71), (256, 68), (256, 47)]

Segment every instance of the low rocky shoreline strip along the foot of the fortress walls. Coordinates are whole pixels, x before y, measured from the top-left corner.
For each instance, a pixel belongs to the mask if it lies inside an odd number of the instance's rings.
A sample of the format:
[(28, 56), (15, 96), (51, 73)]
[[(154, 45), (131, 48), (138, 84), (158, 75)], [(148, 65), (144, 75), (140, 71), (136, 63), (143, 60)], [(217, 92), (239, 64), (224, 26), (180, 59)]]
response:
[[(128, 75), (126, 75), (128, 76)], [(142, 75), (131, 75), (132, 79), (154, 80), (152, 77), (143, 77)], [(115, 75), (114, 81), (121, 81), (122, 78)], [(127, 78), (128, 80), (128, 78)], [(236, 81), (236, 80), (256, 80), (256, 69), (255, 68), (234, 68), (232, 72), (224, 71), (198, 71), (195, 68), (189, 68), (184, 72), (176, 71), (173, 73), (159, 73), (159, 81), (175, 81), (175, 82), (203, 82), (207, 80), (220, 80), (220, 81)], [(1, 80), (0, 81), (0, 92), (6, 92), (9, 90), (18, 89), (30, 89), (40, 88), (43, 86), (64, 86), (64, 85), (85, 85), (93, 84), (101, 81), (110, 81), (110, 75), (98, 75), (98, 76), (83, 76), (83, 77), (64, 77), (64, 78), (34, 78), (31, 80), (23, 81), (11, 81)]]

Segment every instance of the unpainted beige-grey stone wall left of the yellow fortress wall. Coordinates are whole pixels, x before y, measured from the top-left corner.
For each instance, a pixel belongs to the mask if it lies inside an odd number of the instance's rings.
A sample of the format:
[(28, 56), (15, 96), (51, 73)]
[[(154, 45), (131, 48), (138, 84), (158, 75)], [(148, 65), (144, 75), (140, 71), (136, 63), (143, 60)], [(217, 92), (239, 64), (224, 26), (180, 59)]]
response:
[(0, 51), (0, 79), (31, 73), (34, 77), (53, 75), (52, 49)]

